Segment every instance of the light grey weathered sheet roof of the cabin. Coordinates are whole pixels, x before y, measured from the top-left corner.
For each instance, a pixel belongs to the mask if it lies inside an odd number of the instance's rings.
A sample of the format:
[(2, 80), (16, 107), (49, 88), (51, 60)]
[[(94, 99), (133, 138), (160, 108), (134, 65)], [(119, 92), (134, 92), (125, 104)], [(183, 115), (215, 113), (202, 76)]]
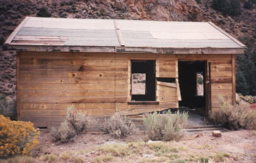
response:
[(6, 44), (134, 48), (245, 48), (207, 22), (27, 17)]

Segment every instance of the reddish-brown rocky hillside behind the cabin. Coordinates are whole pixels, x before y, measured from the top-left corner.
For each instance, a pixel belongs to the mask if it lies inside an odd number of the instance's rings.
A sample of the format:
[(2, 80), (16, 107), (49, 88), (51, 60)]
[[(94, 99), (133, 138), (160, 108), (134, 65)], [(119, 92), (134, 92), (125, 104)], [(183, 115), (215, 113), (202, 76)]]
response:
[[(25, 16), (47, 8), (56, 18), (146, 19), (156, 21), (212, 21), (255, 50), (256, 5), (241, 14), (223, 16), (211, 0), (0, 0), (0, 43)], [(253, 38), (254, 37), (254, 38)], [(0, 49), (0, 93), (15, 98), (15, 51)]]

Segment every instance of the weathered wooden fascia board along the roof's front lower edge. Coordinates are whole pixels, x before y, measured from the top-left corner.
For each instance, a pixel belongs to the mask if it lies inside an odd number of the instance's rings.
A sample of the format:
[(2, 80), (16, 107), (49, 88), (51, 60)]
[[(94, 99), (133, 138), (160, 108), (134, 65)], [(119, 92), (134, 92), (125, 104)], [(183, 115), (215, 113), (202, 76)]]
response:
[(49, 46), (49, 45), (13, 45), (5, 43), (3, 50), (15, 51), (63, 51), (87, 53), (154, 53), (154, 54), (244, 54), (243, 48), (151, 48), (127, 46)]

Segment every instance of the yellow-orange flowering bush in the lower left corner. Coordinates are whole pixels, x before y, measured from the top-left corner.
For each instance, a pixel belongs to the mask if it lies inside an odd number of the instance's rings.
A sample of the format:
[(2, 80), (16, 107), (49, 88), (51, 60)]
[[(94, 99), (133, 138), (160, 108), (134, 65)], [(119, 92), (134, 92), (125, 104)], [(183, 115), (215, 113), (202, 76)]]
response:
[(30, 155), (39, 144), (39, 134), (31, 122), (11, 121), (0, 115), (0, 158)]

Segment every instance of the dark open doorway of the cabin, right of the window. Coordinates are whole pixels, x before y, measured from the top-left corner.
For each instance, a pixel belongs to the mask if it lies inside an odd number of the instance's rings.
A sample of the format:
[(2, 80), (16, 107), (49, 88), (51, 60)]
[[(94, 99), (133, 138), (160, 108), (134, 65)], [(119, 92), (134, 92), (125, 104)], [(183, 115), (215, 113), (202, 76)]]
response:
[(207, 114), (207, 61), (178, 61), (178, 81), (182, 100), (180, 107)]

